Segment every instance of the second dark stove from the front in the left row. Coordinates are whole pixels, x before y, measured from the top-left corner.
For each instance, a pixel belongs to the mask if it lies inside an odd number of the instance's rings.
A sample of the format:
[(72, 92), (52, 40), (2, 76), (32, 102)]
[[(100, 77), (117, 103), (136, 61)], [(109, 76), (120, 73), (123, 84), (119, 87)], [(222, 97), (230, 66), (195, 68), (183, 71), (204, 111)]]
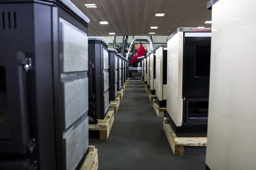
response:
[(109, 108), (108, 42), (101, 37), (89, 37), (89, 116), (97, 123)]

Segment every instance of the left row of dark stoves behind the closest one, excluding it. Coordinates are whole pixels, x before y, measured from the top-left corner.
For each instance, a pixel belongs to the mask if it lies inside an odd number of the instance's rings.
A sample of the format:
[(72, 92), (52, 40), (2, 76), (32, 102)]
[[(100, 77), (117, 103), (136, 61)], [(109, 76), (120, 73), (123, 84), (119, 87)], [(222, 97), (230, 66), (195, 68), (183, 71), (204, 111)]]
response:
[(89, 113), (97, 123), (108, 113), (109, 102), (129, 78), (129, 62), (101, 37), (88, 38)]

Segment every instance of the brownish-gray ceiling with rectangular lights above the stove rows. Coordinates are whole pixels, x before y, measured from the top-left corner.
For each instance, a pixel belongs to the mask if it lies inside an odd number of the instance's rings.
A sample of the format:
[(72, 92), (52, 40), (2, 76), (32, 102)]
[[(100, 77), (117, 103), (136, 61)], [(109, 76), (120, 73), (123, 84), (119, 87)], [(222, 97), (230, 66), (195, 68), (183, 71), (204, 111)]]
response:
[[(211, 27), (205, 21), (211, 20), (211, 10), (206, 10), (208, 0), (72, 0), (91, 20), (89, 36), (154, 35), (168, 36), (178, 27)], [(98, 8), (86, 8), (84, 4), (94, 3)], [(155, 17), (165, 13), (164, 17)], [(108, 25), (99, 24), (108, 21)], [(150, 29), (158, 26), (157, 29)]]

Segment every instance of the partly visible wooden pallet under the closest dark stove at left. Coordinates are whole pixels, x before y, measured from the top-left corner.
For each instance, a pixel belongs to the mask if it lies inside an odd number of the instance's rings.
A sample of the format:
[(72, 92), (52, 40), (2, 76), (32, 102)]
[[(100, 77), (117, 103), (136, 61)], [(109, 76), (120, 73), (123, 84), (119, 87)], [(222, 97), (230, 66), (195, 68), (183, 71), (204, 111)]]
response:
[(89, 153), (84, 159), (84, 162), (79, 170), (98, 170), (98, 168), (98, 149), (96, 149), (95, 146), (89, 146)]

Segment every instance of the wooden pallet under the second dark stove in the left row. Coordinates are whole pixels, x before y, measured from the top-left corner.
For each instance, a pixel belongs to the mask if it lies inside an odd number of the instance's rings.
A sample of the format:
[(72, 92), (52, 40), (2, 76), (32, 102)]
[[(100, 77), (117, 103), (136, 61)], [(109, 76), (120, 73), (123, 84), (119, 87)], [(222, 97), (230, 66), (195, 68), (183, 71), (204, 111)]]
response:
[(108, 140), (109, 133), (114, 123), (114, 110), (109, 108), (109, 111), (104, 120), (98, 120), (98, 123), (89, 124), (89, 130), (99, 130), (99, 139)]

